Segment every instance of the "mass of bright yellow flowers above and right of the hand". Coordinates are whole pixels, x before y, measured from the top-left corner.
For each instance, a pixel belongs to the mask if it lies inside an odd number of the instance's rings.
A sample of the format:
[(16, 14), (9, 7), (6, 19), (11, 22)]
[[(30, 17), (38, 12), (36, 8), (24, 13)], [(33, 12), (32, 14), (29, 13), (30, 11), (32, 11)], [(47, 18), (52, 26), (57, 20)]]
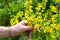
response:
[[(36, 0), (38, 1), (38, 0)], [(60, 13), (58, 12), (57, 6), (49, 5), (47, 9), (48, 0), (43, 0), (42, 2), (37, 2), (35, 5), (34, 0), (27, 0), (24, 2), (24, 11), (19, 11), (15, 17), (10, 20), (11, 25), (14, 25), (19, 22), (18, 18), (22, 20), (27, 20), (28, 25), (32, 27), (34, 24), (34, 29), (43, 30), (43, 34), (49, 35), (52, 38), (56, 37), (56, 32), (60, 32), (60, 25), (58, 20), (60, 19)], [(58, 2), (56, 0), (56, 2)], [(23, 17), (24, 15), (24, 17)], [(34, 30), (36, 32), (36, 30)]]

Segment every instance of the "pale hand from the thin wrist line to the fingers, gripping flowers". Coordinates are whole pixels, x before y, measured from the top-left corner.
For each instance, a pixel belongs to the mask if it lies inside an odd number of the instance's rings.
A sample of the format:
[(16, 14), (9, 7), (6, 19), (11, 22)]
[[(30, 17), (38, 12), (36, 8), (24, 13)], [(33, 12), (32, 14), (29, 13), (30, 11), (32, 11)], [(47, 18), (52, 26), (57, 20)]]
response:
[(27, 21), (21, 21), (20, 23), (16, 24), (14, 27), (12, 27), (12, 36), (18, 36), (23, 32), (30, 31), (31, 28), (29, 28)]

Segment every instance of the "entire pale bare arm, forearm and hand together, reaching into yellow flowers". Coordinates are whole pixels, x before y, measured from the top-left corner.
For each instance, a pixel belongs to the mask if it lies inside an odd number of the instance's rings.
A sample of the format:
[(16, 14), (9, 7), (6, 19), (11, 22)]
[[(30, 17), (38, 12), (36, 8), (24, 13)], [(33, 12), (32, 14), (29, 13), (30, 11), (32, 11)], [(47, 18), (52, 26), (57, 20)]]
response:
[(0, 26), (0, 38), (15, 37), (28, 30), (31, 30), (31, 28), (27, 26), (27, 21), (21, 21), (20, 23), (9, 27)]

